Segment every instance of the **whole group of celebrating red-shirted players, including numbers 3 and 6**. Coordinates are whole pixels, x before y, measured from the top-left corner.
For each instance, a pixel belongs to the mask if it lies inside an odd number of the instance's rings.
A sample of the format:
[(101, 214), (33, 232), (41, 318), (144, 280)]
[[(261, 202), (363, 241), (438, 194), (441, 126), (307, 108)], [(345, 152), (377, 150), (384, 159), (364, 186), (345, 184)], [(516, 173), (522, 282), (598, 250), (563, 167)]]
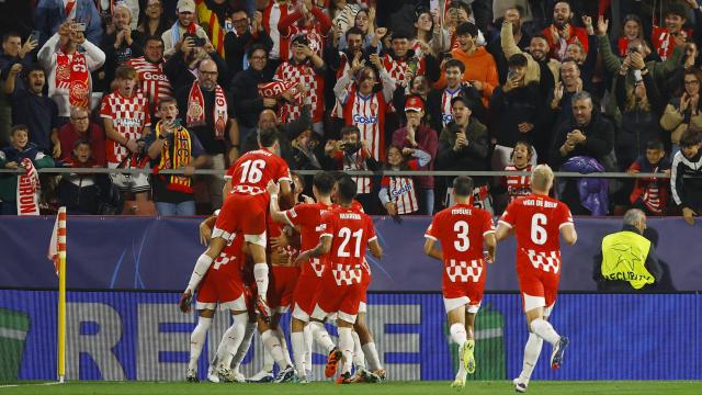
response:
[[(190, 312), (197, 291), (200, 317), (191, 335), (186, 380), (199, 381), (197, 360), (218, 305), (230, 313), (233, 324), (211, 361), (210, 381), (246, 380), (239, 366), (258, 328), (267, 359), (280, 373), (272, 377), (272, 368), (264, 369), (257, 380), (308, 383), (316, 342), (328, 352), (327, 377), (336, 375), (338, 384), (382, 382), (386, 373), (365, 325), (371, 283), (365, 251), (381, 258), (383, 250), (371, 217), (354, 200), (358, 185), (349, 176), (319, 172), (314, 177), (314, 199), (303, 195), (304, 203), (297, 203), (301, 182), (293, 182), (287, 165), (274, 154), (278, 145), (275, 129), (261, 131), (260, 149), (241, 156), (227, 172), (222, 210), (200, 226), (208, 247), (197, 258), (180, 302), (181, 311)], [(460, 351), (454, 387), (465, 386), (467, 374), (476, 370), (473, 327), (485, 289), (485, 263), (495, 261), (497, 242), (512, 233), (530, 330), (514, 388), (526, 391), (543, 340), (553, 346), (552, 368), (563, 362), (568, 338), (547, 318), (558, 287), (559, 236), (573, 245), (577, 234), (568, 207), (548, 196), (553, 178), (547, 166), (535, 167), (532, 193), (510, 203), (496, 229), (490, 214), (473, 206), (473, 180), (457, 177), (455, 204), (435, 214), (427, 229), (424, 252), (444, 262), (444, 306)], [(292, 359), (279, 325), (287, 311)], [(325, 328), (335, 319), (337, 345)]]

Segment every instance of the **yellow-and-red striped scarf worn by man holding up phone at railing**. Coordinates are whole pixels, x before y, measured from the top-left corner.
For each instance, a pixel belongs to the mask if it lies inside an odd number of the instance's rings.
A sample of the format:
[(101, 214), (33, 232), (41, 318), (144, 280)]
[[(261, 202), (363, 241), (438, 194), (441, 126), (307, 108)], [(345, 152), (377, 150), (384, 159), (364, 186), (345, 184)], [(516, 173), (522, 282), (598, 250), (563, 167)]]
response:
[[(161, 135), (161, 122), (159, 121), (156, 124), (156, 137)], [(191, 151), (192, 151), (192, 140), (190, 138), (190, 133), (182, 127), (179, 126), (173, 132), (172, 143), (171, 139), (168, 139), (169, 144), (163, 144), (163, 148), (161, 149), (161, 160), (158, 166), (154, 169), (155, 173), (158, 173), (159, 170), (165, 169), (180, 169), (181, 167), (190, 165), (191, 160)], [(172, 144), (172, 147), (170, 145)], [(171, 150), (172, 148), (172, 150)], [(171, 153), (173, 157), (171, 158)], [(161, 180), (165, 180), (165, 177), (161, 176)], [(183, 193), (193, 193), (193, 189), (191, 187), (191, 178), (171, 174), (166, 185), (166, 189), (169, 191), (178, 191)]]

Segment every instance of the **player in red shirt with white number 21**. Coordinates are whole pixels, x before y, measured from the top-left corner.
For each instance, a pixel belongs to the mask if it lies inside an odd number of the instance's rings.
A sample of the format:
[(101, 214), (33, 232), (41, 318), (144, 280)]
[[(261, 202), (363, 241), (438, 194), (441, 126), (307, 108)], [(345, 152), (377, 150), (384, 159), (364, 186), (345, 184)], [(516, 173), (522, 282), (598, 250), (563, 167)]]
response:
[(350, 177), (341, 178), (337, 190), (340, 207), (324, 215), (319, 244), (301, 253), (297, 260), (305, 262), (328, 253), (328, 270), (324, 273), (321, 293), (312, 317), (322, 321), (337, 313), (339, 349), (343, 362), (337, 383), (349, 384), (353, 354), (351, 332), (364, 292), (362, 264), (365, 249), (366, 246), (370, 247), (371, 253), (376, 258), (382, 257), (383, 249), (377, 242), (371, 217), (351, 207), (356, 193), (355, 182)]

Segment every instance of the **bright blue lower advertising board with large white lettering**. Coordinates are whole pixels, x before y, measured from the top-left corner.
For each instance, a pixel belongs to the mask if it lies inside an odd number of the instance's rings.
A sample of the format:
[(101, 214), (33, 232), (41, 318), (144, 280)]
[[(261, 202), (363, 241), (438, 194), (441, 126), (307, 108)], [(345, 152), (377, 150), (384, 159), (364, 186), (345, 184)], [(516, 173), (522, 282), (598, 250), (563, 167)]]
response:
[[(183, 381), (196, 318), (180, 313), (179, 297), (69, 292), (66, 377)], [(55, 379), (55, 317), (56, 292), (0, 290), (0, 382)], [(702, 379), (702, 295), (566, 294), (551, 321), (570, 347), (563, 368), (552, 370), (544, 345), (533, 380)], [(389, 380), (453, 380), (456, 346), (448, 343), (440, 294), (371, 294), (367, 323)], [(218, 312), (199, 364), (203, 379), (227, 326)], [(528, 337), (520, 296), (486, 295), (475, 329), (474, 379), (516, 377)], [(257, 336), (244, 362), (247, 376), (261, 368), (260, 356)], [(316, 353), (314, 362), (314, 376), (322, 379), (326, 356)]]

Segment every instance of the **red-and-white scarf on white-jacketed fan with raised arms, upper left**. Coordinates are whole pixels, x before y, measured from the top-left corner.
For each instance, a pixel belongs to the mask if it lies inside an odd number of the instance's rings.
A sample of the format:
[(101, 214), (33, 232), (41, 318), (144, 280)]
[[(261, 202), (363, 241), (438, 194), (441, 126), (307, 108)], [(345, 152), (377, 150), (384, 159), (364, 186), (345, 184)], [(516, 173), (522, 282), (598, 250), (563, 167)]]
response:
[(72, 59), (64, 50), (56, 54), (56, 89), (68, 90), (70, 105), (87, 108), (89, 104), (88, 82), (90, 72), (86, 64), (86, 55), (75, 52)]

